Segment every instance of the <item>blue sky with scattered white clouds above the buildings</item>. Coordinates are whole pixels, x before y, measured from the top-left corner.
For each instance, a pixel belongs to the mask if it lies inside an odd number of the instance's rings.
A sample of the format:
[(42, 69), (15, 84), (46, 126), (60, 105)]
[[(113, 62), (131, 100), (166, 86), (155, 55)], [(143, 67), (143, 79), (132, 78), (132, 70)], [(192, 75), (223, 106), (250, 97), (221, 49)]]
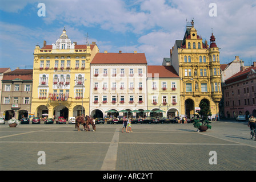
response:
[[(209, 15), (212, 2), (217, 16)], [(45, 3), (45, 17), (37, 14), (38, 3)], [(71, 42), (85, 44), (88, 33), (100, 52), (143, 52), (149, 65), (161, 65), (191, 19), (208, 42), (213, 28), (221, 64), (235, 56), (245, 65), (256, 61), (253, 0), (0, 0), (0, 67), (33, 65), (35, 45), (55, 43), (64, 26)]]

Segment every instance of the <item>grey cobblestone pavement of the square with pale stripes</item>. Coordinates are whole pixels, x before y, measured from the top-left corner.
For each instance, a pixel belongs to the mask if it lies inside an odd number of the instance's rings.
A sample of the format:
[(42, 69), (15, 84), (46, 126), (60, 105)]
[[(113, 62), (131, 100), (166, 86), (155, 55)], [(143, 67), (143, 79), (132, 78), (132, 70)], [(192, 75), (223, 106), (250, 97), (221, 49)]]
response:
[[(198, 133), (188, 124), (100, 124), (78, 132), (74, 125), (0, 125), (0, 170), (255, 171), (256, 141), (246, 122), (213, 122)], [(39, 165), (38, 151), (46, 164)], [(217, 164), (210, 164), (215, 151)], [(210, 159), (211, 158), (211, 159)]]

